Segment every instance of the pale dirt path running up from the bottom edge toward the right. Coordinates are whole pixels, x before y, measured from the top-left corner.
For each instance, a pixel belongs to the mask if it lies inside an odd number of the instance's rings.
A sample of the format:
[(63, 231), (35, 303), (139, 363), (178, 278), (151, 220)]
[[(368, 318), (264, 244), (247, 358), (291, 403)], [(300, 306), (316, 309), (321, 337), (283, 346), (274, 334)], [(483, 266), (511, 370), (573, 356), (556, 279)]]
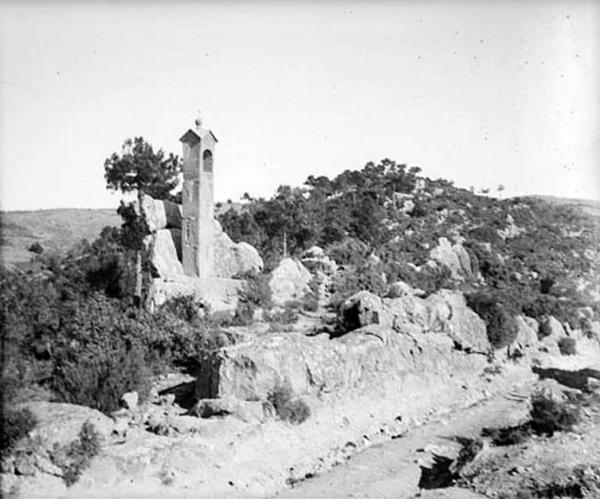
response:
[[(455, 456), (454, 436), (474, 437), (482, 427), (522, 421), (528, 411), (530, 388), (505, 392), (473, 407), (415, 428), (395, 440), (373, 446), (330, 472), (283, 491), (278, 498), (412, 498), (419, 492), (419, 464), (428, 465), (433, 453)], [(477, 498), (464, 489), (423, 491), (420, 497)]]

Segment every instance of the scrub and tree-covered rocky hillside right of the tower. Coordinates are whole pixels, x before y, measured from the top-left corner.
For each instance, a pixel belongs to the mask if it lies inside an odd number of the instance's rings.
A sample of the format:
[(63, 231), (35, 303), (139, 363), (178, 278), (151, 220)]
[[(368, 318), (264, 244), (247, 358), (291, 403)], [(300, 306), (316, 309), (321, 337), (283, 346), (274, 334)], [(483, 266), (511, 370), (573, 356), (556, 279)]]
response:
[[(268, 268), (284, 238), (292, 255), (323, 247), (341, 266), (334, 305), (363, 289), (384, 295), (397, 280), (426, 294), (463, 290), (497, 347), (514, 339), (516, 314), (580, 327), (578, 310), (600, 312), (593, 299), (600, 230), (592, 215), (533, 198), (479, 196), (388, 159), (333, 179), (311, 176), (270, 199), (246, 196), (243, 209), (230, 209), (220, 222), (235, 241), (256, 246)], [(460, 280), (427, 263), (440, 237), (462, 241), (469, 255), (471, 272)]]

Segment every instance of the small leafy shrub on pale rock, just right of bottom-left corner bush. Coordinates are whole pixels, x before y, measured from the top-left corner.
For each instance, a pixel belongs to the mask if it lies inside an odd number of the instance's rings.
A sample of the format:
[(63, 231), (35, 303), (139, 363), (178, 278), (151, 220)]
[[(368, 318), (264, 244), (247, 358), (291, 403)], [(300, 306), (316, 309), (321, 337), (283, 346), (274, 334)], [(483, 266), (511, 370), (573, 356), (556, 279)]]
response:
[(76, 483), (89, 467), (93, 457), (100, 452), (100, 437), (89, 422), (83, 423), (77, 440), (63, 447), (56, 447), (50, 454), (52, 462), (63, 471), (67, 486)]

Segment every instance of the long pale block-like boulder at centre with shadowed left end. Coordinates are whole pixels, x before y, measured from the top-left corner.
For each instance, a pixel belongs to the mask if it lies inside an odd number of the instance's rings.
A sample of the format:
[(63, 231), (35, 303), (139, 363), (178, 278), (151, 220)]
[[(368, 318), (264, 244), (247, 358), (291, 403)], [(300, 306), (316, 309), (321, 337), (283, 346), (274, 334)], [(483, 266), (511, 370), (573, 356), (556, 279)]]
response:
[(273, 333), (223, 348), (201, 359), (198, 398), (265, 400), (277, 387), (297, 395), (338, 393), (359, 383), (377, 385), (385, 373), (401, 373), (410, 357), (407, 337), (379, 326), (336, 340), (326, 335)]

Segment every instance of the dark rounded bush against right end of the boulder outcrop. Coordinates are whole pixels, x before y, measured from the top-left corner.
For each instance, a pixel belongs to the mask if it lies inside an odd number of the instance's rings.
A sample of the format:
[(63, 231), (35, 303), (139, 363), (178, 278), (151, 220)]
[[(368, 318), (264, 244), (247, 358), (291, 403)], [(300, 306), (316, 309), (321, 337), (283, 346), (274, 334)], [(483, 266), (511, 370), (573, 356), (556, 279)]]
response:
[(517, 339), (518, 326), (499, 298), (491, 293), (477, 292), (467, 296), (467, 304), (487, 326), (487, 335), (494, 348), (503, 348)]

